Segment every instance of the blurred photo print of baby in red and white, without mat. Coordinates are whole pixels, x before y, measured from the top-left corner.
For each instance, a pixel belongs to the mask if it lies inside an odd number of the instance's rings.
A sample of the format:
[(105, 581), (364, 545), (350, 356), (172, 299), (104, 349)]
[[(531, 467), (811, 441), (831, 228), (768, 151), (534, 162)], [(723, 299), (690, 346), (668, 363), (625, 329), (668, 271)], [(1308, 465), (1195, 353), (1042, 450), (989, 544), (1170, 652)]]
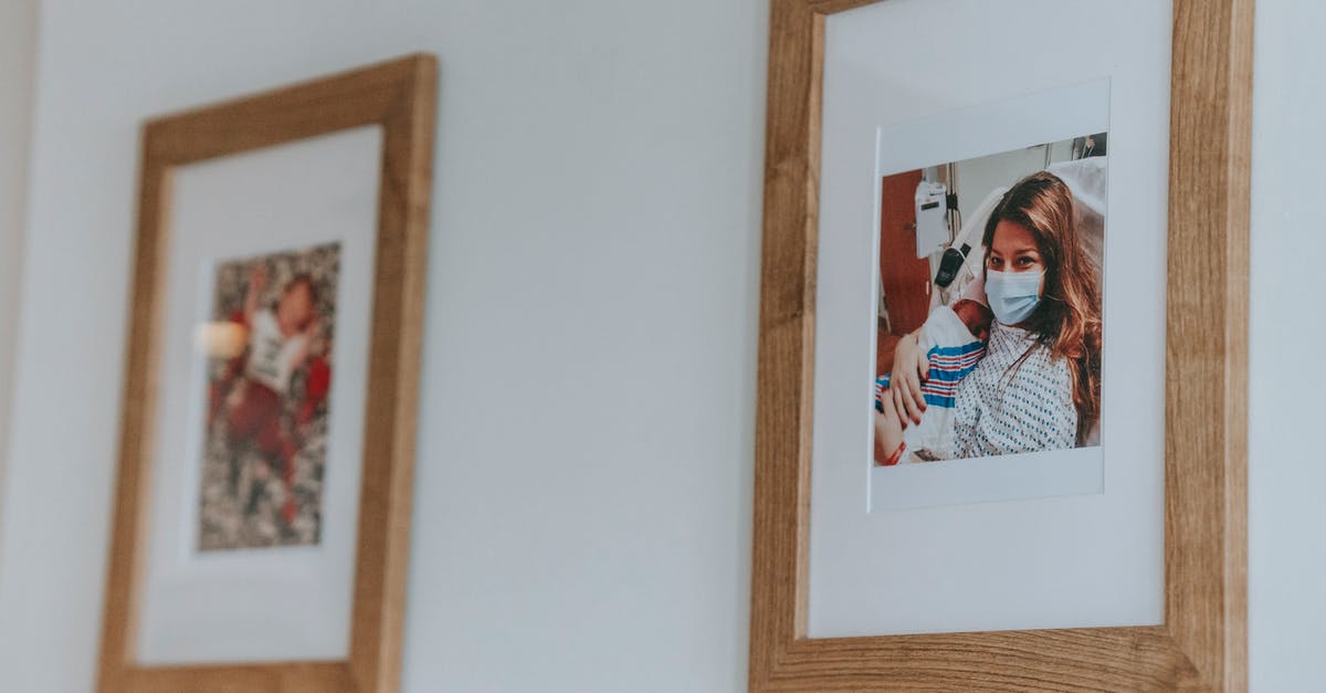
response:
[(321, 540), (341, 244), (215, 267), (198, 548)]

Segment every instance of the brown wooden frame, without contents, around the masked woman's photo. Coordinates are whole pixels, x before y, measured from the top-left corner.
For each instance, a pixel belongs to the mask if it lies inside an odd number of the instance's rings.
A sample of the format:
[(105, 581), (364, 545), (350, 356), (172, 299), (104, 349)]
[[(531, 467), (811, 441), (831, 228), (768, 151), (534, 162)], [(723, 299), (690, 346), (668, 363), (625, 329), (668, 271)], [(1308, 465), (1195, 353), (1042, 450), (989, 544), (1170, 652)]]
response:
[(873, 1), (770, 3), (749, 689), (1245, 689), (1253, 0), (1174, 3), (1164, 624), (806, 636), (825, 17)]

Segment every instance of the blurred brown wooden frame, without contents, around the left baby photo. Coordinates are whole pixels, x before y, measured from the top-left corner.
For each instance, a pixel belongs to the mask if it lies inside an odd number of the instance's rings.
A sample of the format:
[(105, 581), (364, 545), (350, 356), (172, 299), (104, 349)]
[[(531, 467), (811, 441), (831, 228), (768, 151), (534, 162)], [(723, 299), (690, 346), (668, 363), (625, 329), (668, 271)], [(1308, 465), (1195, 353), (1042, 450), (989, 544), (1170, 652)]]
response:
[[(412, 54), (152, 119), (143, 127), (119, 471), (101, 639), (101, 693), (390, 693), (399, 688), (423, 333), (436, 58)], [(382, 129), (371, 343), (349, 657), (343, 661), (135, 664), (139, 574), (163, 339), (172, 171), (351, 127)]]

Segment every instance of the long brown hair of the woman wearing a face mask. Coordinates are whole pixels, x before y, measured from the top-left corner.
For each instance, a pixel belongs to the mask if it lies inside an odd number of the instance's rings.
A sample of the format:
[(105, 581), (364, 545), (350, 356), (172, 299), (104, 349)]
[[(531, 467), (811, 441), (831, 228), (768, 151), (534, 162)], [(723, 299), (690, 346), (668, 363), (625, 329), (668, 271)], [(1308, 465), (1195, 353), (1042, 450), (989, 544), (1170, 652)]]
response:
[(1078, 240), (1073, 193), (1049, 171), (1018, 181), (985, 223), (987, 258), (1000, 222), (1016, 223), (1036, 239), (1045, 266), (1044, 292), (1041, 304), (1020, 325), (1048, 346), (1052, 357), (1067, 358), (1081, 443), (1101, 417), (1101, 281)]

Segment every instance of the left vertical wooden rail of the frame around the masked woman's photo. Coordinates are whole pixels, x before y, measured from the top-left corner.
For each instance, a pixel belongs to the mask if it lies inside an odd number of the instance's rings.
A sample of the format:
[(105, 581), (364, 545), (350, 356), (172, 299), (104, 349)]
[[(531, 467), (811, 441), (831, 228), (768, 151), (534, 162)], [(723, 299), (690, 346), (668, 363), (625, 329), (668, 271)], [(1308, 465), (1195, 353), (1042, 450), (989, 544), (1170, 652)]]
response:
[(769, 24), (760, 365), (754, 447), (751, 686), (806, 631), (821, 17), (773, 0)]

